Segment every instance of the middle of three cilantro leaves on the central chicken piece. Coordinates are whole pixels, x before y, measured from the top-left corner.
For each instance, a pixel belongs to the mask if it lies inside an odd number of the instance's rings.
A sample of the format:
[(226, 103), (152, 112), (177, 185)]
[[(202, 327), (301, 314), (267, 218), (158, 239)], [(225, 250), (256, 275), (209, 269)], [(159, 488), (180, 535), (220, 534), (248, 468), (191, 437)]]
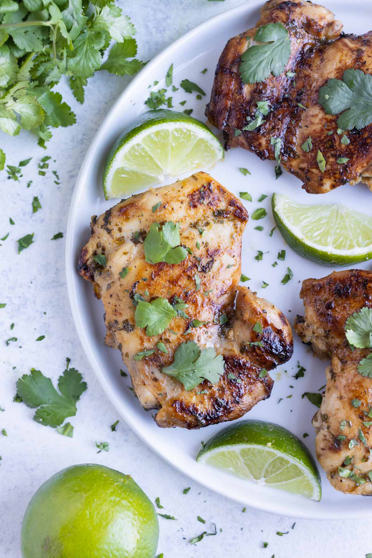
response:
[(146, 328), (146, 335), (149, 337), (163, 333), (176, 316), (176, 310), (162, 297), (151, 302), (139, 301), (134, 314), (136, 326)]

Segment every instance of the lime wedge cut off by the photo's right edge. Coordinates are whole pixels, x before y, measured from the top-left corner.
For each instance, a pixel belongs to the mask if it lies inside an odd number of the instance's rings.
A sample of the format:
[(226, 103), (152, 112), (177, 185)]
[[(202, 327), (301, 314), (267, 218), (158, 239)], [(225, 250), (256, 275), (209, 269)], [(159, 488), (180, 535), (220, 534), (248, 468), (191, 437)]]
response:
[(372, 217), (345, 205), (300, 205), (273, 194), (273, 215), (282, 237), (300, 256), (327, 266), (372, 257)]

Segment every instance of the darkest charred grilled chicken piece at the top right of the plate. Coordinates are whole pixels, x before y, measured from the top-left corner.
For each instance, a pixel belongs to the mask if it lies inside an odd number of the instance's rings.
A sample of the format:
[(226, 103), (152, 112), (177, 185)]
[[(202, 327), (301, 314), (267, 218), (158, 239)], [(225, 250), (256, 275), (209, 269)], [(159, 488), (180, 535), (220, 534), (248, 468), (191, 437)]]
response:
[[(281, 22), (291, 40), (291, 56), (279, 76), (255, 84), (243, 84), (239, 66), (257, 29)], [(224, 131), (228, 147), (243, 147), (262, 159), (274, 159), (272, 137), (281, 138), (282, 165), (312, 194), (322, 194), (337, 186), (363, 181), (372, 187), (372, 124), (347, 131), (349, 145), (337, 134), (338, 115), (325, 113), (318, 93), (328, 79), (342, 79), (347, 69), (372, 73), (372, 34), (340, 35), (342, 23), (328, 9), (305, 0), (269, 0), (255, 27), (230, 39), (222, 52), (215, 74), (206, 116)], [(287, 76), (287, 73), (289, 75)], [(295, 75), (293, 75), (295, 74)], [(270, 103), (265, 122), (253, 131), (244, 131), (247, 117), (254, 116), (257, 102)], [(302, 105), (302, 106), (301, 106)], [(305, 107), (305, 108), (304, 108)], [(235, 136), (235, 130), (243, 132)], [(328, 134), (329, 132), (329, 134)], [(302, 144), (308, 137), (312, 149)], [(325, 172), (317, 164), (317, 152), (326, 160)], [(337, 158), (348, 158), (339, 165)]]

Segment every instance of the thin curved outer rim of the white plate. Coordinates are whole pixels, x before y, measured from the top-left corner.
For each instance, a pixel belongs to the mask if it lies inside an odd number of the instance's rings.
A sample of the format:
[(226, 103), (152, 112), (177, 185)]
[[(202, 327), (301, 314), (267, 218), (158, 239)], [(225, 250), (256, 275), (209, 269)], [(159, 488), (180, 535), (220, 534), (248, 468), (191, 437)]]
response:
[[(66, 285), (67, 285), (67, 294), (69, 297), (70, 309), (73, 315), (74, 324), (76, 331), (79, 336), (80, 343), (84, 349), (84, 353), (86, 358), (88, 358), (88, 362), (93, 369), (95, 376), (98, 378), (101, 386), (103, 387), (107, 397), (109, 398), (110, 402), (113, 403), (114, 407), (118, 410), (120, 415), (125, 420), (125, 423), (133, 430), (133, 432), (150, 448), (154, 453), (156, 453), (161, 459), (166, 461), (166, 463), (173, 466), (175, 469), (179, 470), (181, 473), (185, 474), (187, 477), (192, 479), (194, 482), (197, 482), (201, 485), (204, 485), (206, 488), (221, 494), (230, 500), (235, 502), (239, 502), (241, 504), (245, 504), (246, 506), (259, 509), (260, 511), (264, 511), (267, 513), (274, 513), (280, 516), (286, 517), (298, 517), (298, 518), (306, 518), (306, 519), (330, 519), (337, 521), (339, 519), (344, 519), (345, 514), (342, 511), (342, 507), (340, 507), (340, 511), (337, 512), (336, 510), (332, 509), (331, 511), (327, 511), (327, 508), (323, 509), (321, 506), (321, 501), (319, 502), (319, 506), (316, 508), (313, 507), (301, 507), (301, 502), (298, 503), (296, 511), (294, 509), (287, 510), (282, 509), (281, 504), (278, 502), (273, 502), (270, 499), (262, 499), (258, 500), (255, 499), (254, 502), (250, 501), (247, 503), (247, 496), (242, 496), (239, 498), (237, 494), (230, 494), (228, 492), (228, 488), (225, 488), (223, 485), (219, 485), (216, 487), (211, 482), (208, 482), (206, 478), (199, 479), (195, 478), (192, 473), (189, 473), (187, 469), (183, 468), (182, 463), (177, 463), (176, 459), (172, 456), (165, 456), (164, 454), (160, 453), (154, 447), (151, 442), (147, 439), (144, 435), (141, 428), (137, 427), (136, 421), (132, 421), (131, 413), (123, 408), (122, 402), (119, 401), (116, 393), (113, 391), (112, 387), (107, 382), (104, 374), (102, 373), (99, 364), (96, 360), (95, 354), (91, 349), (91, 343), (88, 339), (88, 336), (85, 333), (83, 321), (81, 320), (81, 314), (79, 310), (79, 305), (77, 301), (77, 293), (74, 285), (74, 274), (77, 273), (76, 270), (76, 261), (75, 261), (75, 254), (73, 251), (73, 229), (74, 229), (74, 222), (75, 222), (75, 207), (76, 207), (76, 199), (78, 198), (81, 190), (80, 183), (82, 183), (82, 178), (86, 174), (87, 170), (89, 169), (89, 161), (94, 155), (96, 150), (96, 145), (98, 145), (101, 141), (101, 137), (104, 133), (105, 128), (107, 127), (107, 119), (110, 113), (114, 112), (119, 105), (125, 102), (125, 99), (131, 98), (131, 95), (136, 92), (137, 84), (140, 83), (144, 78), (146, 78), (147, 74), (152, 75), (152, 69), (155, 68), (160, 62), (167, 59), (170, 53), (174, 50), (179, 48), (183, 43), (189, 42), (193, 36), (199, 35), (199, 33), (206, 30), (207, 27), (213, 26), (216, 22), (223, 20), (226, 18), (227, 15), (235, 16), (241, 13), (244, 14), (246, 11), (252, 11), (252, 9), (262, 6), (263, 0), (249, 0), (247, 3), (241, 4), (240, 6), (230, 8), (226, 11), (221, 12), (220, 14), (206, 20), (200, 25), (194, 27), (194, 29), (188, 31), (181, 37), (179, 37), (176, 41), (172, 42), (168, 45), (165, 49), (159, 52), (153, 59), (148, 62), (144, 68), (139, 71), (139, 73), (132, 79), (132, 81), (125, 87), (123, 92), (119, 95), (117, 100), (114, 104), (109, 108), (108, 112), (105, 114), (102, 123), (100, 124), (99, 128), (97, 129), (96, 133), (94, 134), (93, 140), (90, 143), (88, 150), (86, 151), (85, 157), (83, 162), (81, 163), (80, 171), (78, 177), (76, 178), (75, 186), (73, 195), (71, 197), (71, 203), (69, 208), (69, 214), (67, 217), (67, 228), (66, 228), (66, 248), (65, 248), (65, 271), (66, 271)], [(320, 466), (320, 465), (319, 465)], [(364, 509), (360, 512), (353, 513), (353, 519), (362, 519), (372, 516), (372, 508), (370, 514), (366, 512)]]

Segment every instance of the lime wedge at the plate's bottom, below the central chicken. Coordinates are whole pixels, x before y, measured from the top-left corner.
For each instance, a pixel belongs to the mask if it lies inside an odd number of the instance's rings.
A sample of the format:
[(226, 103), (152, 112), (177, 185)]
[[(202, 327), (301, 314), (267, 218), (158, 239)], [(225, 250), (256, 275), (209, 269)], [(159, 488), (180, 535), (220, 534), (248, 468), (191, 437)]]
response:
[(301, 440), (272, 422), (246, 420), (228, 426), (199, 451), (199, 463), (319, 501), (320, 475)]

